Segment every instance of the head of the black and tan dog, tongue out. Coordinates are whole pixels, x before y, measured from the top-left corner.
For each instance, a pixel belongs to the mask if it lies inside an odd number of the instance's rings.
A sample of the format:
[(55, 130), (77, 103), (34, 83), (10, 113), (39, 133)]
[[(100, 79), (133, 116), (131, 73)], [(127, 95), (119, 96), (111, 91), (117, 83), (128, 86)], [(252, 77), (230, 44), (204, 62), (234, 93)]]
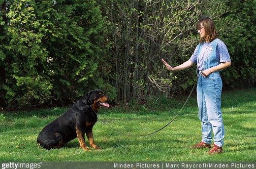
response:
[(105, 95), (101, 90), (93, 90), (86, 94), (87, 100), (95, 111), (98, 111), (101, 106), (109, 107), (109, 96)]

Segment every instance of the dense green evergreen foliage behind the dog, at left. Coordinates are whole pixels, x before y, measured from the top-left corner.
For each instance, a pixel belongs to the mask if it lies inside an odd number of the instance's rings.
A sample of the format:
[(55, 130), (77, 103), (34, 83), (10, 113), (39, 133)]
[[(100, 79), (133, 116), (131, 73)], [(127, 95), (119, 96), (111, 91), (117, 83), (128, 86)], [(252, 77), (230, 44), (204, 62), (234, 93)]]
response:
[(0, 89), (8, 105), (65, 104), (98, 87), (88, 87), (102, 78), (95, 72), (105, 48), (94, 1), (14, 0), (4, 9)]

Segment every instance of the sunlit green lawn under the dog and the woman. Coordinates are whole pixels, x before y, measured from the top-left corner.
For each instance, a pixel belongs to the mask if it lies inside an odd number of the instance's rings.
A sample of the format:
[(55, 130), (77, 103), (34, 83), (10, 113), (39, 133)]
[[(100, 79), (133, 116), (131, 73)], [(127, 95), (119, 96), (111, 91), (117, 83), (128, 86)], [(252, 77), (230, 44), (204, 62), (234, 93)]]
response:
[[(195, 93), (195, 92), (194, 92)], [(201, 139), (196, 96), (189, 99), (177, 118), (164, 130), (150, 136), (126, 136), (100, 120), (94, 125), (94, 140), (103, 150), (84, 151), (77, 139), (61, 149), (44, 150), (36, 139), (42, 128), (67, 108), (0, 112), (0, 161), (255, 161), (256, 89), (222, 94), (222, 116), (226, 137), (224, 153), (189, 149)], [(159, 98), (151, 106), (102, 108), (101, 118), (112, 128), (133, 135), (162, 128), (182, 107), (186, 96)], [(86, 140), (88, 144), (88, 141)], [(91, 147), (89, 147), (91, 149)]]

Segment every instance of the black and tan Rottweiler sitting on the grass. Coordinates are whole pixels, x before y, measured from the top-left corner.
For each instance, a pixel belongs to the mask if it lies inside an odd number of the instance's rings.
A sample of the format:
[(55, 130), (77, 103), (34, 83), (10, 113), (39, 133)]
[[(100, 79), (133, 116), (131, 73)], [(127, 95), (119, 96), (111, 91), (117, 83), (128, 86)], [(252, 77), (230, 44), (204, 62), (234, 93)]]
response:
[(106, 101), (109, 96), (101, 90), (88, 92), (83, 98), (79, 99), (65, 113), (49, 123), (40, 132), (37, 143), (45, 148), (60, 148), (69, 141), (78, 138), (80, 147), (88, 151), (85, 145), (85, 134), (89, 145), (93, 149), (102, 149), (94, 143), (92, 128), (97, 122), (98, 110), (102, 106), (109, 107)]

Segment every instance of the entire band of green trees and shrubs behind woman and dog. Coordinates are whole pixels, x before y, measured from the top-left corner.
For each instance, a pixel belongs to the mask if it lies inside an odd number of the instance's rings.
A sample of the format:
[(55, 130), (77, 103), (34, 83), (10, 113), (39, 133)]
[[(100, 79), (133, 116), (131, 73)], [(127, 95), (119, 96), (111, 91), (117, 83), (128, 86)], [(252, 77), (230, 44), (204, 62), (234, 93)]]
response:
[(196, 66), (169, 72), (161, 59), (188, 60), (204, 16), (231, 55), (223, 87), (251, 87), (255, 8), (254, 0), (0, 0), (0, 106), (66, 105), (96, 88), (140, 104), (188, 92)]

